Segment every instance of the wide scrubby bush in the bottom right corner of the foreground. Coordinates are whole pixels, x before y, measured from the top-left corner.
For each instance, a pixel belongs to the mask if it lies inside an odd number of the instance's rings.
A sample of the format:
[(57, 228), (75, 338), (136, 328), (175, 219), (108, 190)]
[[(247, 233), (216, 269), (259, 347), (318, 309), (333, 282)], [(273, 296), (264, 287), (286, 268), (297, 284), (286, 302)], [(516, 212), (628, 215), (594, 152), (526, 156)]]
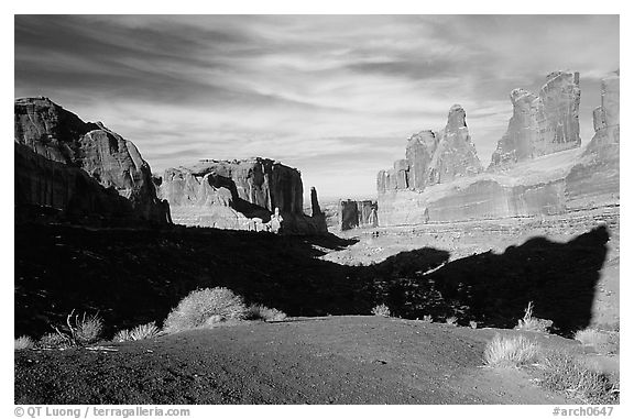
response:
[(542, 386), (555, 392), (566, 392), (587, 404), (619, 404), (619, 382), (603, 373), (589, 370), (567, 352), (547, 352), (543, 359)]

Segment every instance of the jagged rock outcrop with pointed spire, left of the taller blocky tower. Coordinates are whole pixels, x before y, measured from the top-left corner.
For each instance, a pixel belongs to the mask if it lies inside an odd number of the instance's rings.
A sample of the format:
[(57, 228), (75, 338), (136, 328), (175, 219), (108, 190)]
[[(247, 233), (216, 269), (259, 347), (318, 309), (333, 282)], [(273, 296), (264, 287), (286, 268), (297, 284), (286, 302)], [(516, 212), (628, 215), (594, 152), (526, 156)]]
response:
[(379, 194), (394, 190), (423, 190), (456, 178), (482, 172), (476, 145), (471, 141), (461, 106), (449, 109), (447, 126), (436, 133), (422, 131), (407, 140), (405, 159), (394, 168), (381, 170), (376, 177)]

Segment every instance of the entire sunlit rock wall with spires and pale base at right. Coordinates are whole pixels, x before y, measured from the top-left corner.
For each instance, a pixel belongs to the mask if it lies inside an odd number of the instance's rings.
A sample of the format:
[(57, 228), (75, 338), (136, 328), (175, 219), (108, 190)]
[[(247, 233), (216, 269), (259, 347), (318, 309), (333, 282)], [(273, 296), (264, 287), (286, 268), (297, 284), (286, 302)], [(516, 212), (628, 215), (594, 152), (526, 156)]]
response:
[(513, 118), (483, 172), (463, 110), (445, 130), (407, 141), (406, 158), (378, 175), (381, 227), (562, 213), (619, 203), (619, 74), (602, 81), (595, 134), (579, 145), (579, 74), (556, 71), (539, 96), (511, 93)]

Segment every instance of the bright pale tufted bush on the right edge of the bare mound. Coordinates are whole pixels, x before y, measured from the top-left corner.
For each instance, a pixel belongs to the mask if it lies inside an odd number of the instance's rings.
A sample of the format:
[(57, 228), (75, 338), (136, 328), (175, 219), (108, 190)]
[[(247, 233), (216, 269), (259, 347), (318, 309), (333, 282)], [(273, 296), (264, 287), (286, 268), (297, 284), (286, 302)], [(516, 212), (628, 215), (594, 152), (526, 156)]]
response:
[(537, 360), (539, 346), (520, 335), (502, 338), (495, 334), (484, 349), (484, 363), (489, 366), (516, 367)]

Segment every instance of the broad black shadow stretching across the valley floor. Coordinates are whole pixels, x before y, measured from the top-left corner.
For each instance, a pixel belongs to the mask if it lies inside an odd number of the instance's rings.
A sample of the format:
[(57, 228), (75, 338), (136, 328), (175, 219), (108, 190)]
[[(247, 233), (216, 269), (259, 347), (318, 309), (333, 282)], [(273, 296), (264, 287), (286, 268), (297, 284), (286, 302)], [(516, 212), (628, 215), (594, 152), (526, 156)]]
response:
[(599, 227), (568, 243), (534, 238), (503, 254), (448, 263), (442, 250), (403, 252), (371, 266), (315, 258), (353, 244), (335, 235), (280, 236), (215, 229), (88, 230), (15, 225), (15, 335), (40, 337), (73, 309), (105, 319), (106, 335), (161, 323), (196, 288), (226, 286), (289, 316), (395, 316), (513, 327), (534, 315), (562, 334), (591, 320), (609, 233)]

